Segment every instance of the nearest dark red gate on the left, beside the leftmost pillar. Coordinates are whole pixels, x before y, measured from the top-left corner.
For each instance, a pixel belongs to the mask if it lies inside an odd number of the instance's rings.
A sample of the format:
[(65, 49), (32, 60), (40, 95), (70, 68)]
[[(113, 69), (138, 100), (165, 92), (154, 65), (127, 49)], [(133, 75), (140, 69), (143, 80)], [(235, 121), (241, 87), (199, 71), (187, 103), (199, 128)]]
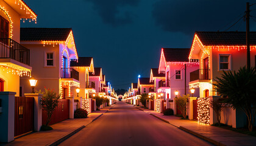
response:
[(34, 97), (15, 97), (14, 136), (34, 130)]

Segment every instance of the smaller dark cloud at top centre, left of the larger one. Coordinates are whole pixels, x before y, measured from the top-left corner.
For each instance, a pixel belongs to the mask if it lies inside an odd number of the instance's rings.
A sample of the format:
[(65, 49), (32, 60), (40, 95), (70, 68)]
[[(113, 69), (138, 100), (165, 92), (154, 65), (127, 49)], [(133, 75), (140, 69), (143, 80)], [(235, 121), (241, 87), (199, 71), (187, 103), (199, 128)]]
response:
[(101, 16), (102, 21), (112, 26), (130, 24), (133, 21), (131, 10), (123, 7), (135, 7), (140, 0), (85, 0), (93, 3), (93, 9)]

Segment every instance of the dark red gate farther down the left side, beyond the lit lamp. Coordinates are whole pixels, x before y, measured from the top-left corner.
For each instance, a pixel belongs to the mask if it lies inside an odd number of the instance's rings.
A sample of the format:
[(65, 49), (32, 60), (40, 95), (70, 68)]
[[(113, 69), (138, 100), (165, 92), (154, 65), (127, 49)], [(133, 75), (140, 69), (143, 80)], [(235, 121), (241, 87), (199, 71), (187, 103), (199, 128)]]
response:
[[(45, 124), (47, 120), (47, 113), (43, 110), (42, 123)], [(69, 119), (69, 99), (59, 99), (57, 108), (52, 114), (49, 125)]]

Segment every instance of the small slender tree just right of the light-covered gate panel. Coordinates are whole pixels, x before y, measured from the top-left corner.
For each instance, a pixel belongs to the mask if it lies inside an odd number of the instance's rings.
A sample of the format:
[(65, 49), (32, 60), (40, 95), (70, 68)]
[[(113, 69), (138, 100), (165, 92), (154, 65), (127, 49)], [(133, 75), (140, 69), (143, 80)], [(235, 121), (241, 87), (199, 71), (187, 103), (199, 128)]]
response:
[(210, 100), (210, 106), (213, 108), (213, 111), (215, 111), (216, 113), (218, 124), (221, 123), (221, 111), (223, 111), (225, 105), (226, 103), (220, 102), (219, 99), (213, 100), (213, 101)]

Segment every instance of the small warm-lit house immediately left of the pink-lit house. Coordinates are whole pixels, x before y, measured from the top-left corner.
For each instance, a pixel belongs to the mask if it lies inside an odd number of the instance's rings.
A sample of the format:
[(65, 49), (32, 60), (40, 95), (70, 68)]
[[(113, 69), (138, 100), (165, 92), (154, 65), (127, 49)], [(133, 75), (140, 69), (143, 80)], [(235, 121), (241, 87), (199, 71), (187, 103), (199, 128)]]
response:
[[(151, 99), (157, 99), (157, 91), (159, 88), (159, 82), (161, 80), (165, 80), (165, 72), (158, 72), (158, 68), (151, 68), (150, 81), (154, 82), (154, 88), (152, 88), (149, 92)], [(160, 86), (162, 85), (161, 83), (162, 82), (160, 82)]]

